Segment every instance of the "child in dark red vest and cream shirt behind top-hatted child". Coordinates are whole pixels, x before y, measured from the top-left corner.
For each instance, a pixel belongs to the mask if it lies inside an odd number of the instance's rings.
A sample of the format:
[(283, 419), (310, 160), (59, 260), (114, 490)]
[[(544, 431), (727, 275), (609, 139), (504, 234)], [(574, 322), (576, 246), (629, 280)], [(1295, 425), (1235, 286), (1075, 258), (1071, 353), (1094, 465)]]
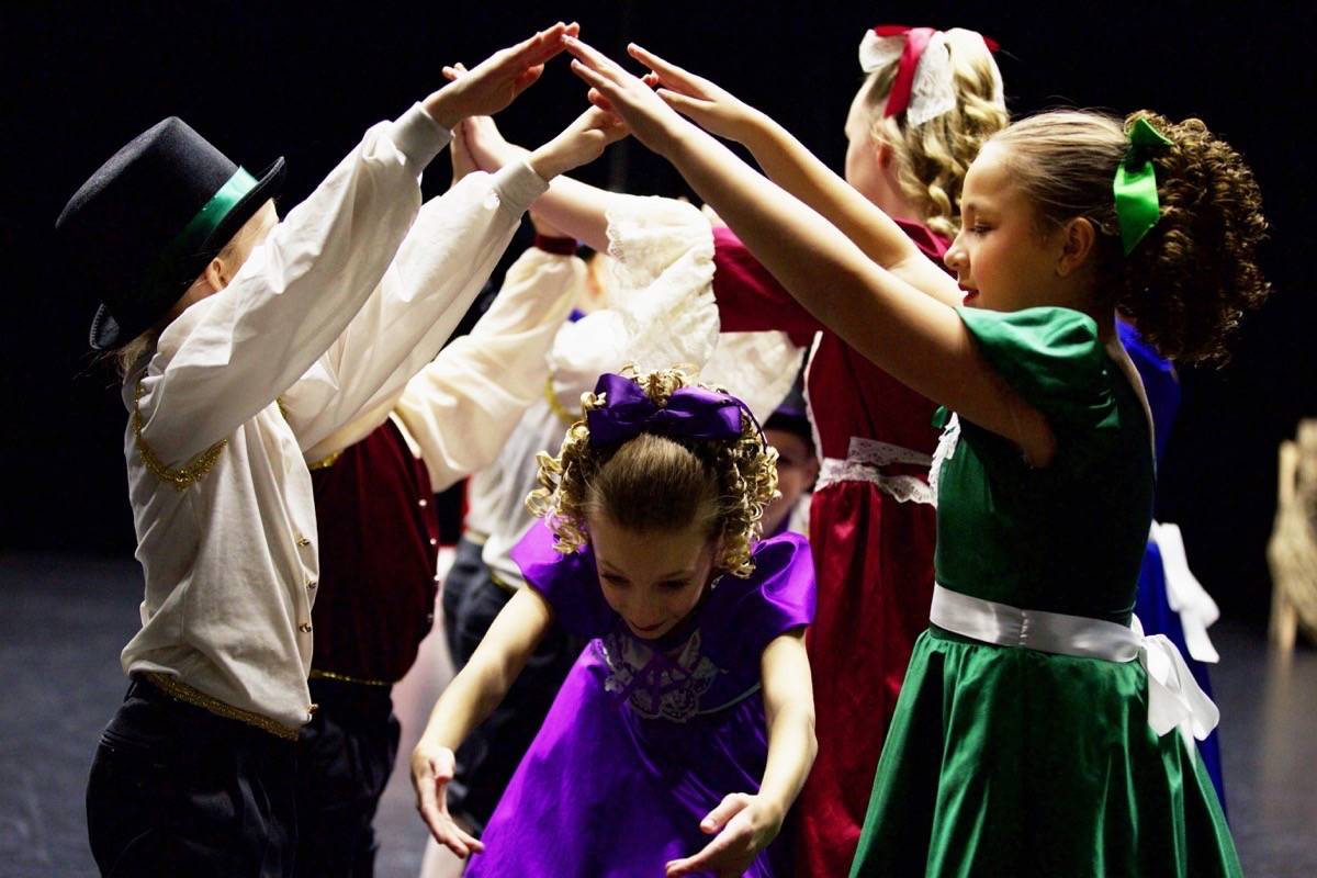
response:
[[(452, 157), (457, 186), (473, 170), (460, 134)], [(569, 269), (562, 257), (527, 250), (470, 333), (395, 400), (307, 454), (320, 534), (309, 687), (320, 710), (298, 753), (302, 875), (373, 873), (371, 821), (398, 753), (392, 684), (433, 624), (432, 498), (491, 463), (539, 395), (544, 355), (573, 300)]]

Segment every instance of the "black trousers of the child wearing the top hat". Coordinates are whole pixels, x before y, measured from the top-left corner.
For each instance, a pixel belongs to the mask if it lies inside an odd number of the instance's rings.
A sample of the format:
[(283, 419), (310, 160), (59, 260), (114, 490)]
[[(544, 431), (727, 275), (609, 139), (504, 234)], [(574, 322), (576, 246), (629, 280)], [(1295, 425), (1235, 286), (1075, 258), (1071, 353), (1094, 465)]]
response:
[(296, 742), (133, 677), (87, 783), (103, 875), (294, 875)]

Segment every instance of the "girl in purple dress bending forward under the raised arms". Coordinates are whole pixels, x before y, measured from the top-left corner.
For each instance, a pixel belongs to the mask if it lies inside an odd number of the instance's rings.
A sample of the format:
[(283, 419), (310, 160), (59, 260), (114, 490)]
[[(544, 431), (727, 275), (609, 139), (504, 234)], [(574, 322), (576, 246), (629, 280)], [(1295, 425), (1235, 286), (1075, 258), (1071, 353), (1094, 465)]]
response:
[[(514, 550), (495, 619), (412, 754), (468, 875), (785, 874), (770, 845), (814, 761), (805, 540), (759, 541), (776, 454), (744, 404), (678, 370), (603, 375)], [(449, 817), (453, 749), (553, 621), (589, 645), (479, 841)]]

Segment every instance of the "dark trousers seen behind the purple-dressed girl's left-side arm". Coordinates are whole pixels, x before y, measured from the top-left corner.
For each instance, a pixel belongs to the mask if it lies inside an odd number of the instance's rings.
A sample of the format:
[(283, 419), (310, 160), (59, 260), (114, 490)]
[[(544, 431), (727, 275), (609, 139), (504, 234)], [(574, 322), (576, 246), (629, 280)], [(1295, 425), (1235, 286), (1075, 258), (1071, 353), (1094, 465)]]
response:
[[(481, 546), (460, 541), (453, 566), (444, 579), (444, 634), (454, 670), (461, 670), (470, 661), (494, 617), (511, 599), (512, 594), (490, 578), (481, 561)], [(448, 810), (475, 835), (485, 831), (583, 648), (585, 641), (568, 636), (554, 625), (503, 702), (457, 748), (456, 777), (448, 785)]]

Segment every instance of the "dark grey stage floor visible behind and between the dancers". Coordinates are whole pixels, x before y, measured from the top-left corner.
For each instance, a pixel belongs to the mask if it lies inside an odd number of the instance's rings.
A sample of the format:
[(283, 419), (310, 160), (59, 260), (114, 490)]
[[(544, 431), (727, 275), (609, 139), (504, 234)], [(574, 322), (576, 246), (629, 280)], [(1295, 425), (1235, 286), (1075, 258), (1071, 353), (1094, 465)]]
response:
[[(0, 878), (96, 874), (83, 792), (100, 729), (124, 695), (119, 652), (137, 629), (140, 600), (133, 561), (0, 557), (0, 669), (9, 671), (0, 716)], [(1212, 636), (1222, 656), (1212, 682), (1245, 873), (1317, 875), (1317, 650), (1300, 648), (1281, 662), (1260, 631), (1221, 623)], [(412, 807), (407, 757), (449, 673), (440, 638), (431, 637), (395, 690), (403, 741), (375, 820), (379, 878), (420, 871), (425, 829)]]

